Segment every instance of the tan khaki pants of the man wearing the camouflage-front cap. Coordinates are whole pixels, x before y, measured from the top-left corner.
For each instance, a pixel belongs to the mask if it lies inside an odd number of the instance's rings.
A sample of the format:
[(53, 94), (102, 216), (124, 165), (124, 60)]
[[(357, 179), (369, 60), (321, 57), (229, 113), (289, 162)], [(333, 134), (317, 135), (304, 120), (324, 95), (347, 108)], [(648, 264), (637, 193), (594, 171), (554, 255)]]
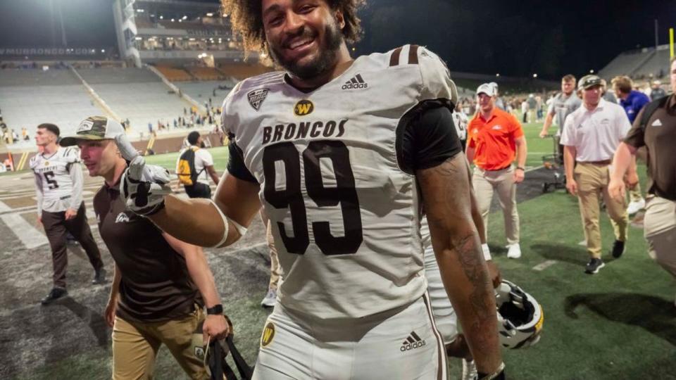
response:
[(113, 380), (152, 379), (155, 357), (163, 343), (190, 379), (208, 379), (192, 343), (192, 334), (202, 323), (204, 312), (199, 307), (183, 319), (165, 322), (132, 322), (115, 317)]

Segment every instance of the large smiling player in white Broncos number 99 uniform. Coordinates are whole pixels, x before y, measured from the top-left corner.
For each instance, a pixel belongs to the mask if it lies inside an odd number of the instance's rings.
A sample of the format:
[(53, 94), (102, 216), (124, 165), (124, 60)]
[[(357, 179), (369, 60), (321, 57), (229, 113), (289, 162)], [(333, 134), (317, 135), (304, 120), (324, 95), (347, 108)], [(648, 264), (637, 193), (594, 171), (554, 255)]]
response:
[[(482, 379), (503, 379), (495, 297), (470, 210), (449, 70), (415, 45), (353, 59), (358, 0), (226, 0), (244, 45), (284, 68), (223, 104), (230, 161), (213, 201), (167, 184), (120, 140), (127, 206), (165, 232), (227, 246), (258, 209), (284, 281), (254, 379), (443, 379), (420, 209)], [(199, 234), (194, 232), (199, 231)]]

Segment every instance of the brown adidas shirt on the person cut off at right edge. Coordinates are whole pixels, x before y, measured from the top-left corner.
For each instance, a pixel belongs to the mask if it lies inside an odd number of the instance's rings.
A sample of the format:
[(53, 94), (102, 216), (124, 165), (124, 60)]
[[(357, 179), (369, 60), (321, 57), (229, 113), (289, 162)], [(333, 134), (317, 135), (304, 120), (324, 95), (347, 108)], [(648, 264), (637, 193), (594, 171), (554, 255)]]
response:
[(625, 143), (648, 151), (648, 192), (676, 201), (676, 96), (671, 95), (664, 107), (655, 110), (646, 129), (639, 125), (639, 112)]

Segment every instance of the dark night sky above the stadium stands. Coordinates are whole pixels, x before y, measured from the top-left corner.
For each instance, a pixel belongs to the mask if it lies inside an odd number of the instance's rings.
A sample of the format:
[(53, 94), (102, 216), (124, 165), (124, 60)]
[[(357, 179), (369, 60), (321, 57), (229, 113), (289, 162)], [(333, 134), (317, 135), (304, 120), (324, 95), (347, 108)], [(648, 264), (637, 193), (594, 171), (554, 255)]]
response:
[[(2, 0), (0, 47), (61, 46), (52, 2), (61, 3), (70, 47), (116, 46), (111, 0)], [(668, 43), (676, 1), (369, 0), (360, 15), (359, 54), (415, 43), (439, 53), (453, 71), (558, 79), (653, 46), (654, 19), (660, 44)]]

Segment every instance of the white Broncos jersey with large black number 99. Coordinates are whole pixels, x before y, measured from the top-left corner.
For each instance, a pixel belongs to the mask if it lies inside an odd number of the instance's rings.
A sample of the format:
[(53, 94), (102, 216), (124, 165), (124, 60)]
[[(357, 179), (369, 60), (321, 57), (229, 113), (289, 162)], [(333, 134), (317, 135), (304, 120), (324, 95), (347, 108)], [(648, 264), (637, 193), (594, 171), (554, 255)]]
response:
[(435, 99), (456, 103), (455, 84), (415, 45), (361, 56), (308, 93), (271, 72), (227, 96), (223, 126), (261, 184), (285, 308), (354, 318), (423, 295), (420, 195), (401, 140), (406, 113)]

